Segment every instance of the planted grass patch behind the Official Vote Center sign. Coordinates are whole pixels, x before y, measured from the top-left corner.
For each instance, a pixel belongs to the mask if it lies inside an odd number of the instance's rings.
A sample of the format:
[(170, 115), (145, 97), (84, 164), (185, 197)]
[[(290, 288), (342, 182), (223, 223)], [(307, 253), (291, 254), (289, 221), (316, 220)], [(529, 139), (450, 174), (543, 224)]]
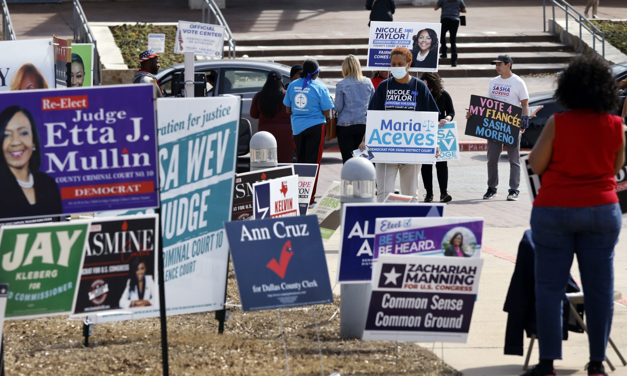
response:
[(115, 44), (120, 48), (124, 63), (129, 69), (139, 69), (139, 54), (148, 48), (148, 34), (166, 34), (166, 52), (161, 55), (161, 68), (182, 63), (184, 55), (174, 53), (176, 41), (176, 26), (155, 26), (153, 24), (123, 24), (111, 26), (111, 33)]

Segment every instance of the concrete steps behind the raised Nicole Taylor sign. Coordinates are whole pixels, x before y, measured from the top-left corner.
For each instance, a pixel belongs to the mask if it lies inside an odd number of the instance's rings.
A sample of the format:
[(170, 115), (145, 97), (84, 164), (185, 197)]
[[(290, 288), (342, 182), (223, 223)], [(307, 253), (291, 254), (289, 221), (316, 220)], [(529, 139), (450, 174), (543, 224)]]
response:
[[(491, 77), (495, 70), (489, 62), (502, 53), (514, 59), (518, 75), (557, 73), (576, 56), (572, 47), (559, 42), (559, 37), (547, 33), (488, 35), (482, 33), (458, 35), (457, 66), (448, 58), (440, 59), (438, 71), (442, 77)], [(238, 40), (237, 57), (275, 61), (288, 66), (300, 64), (307, 58), (319, 61), (322, 76), (342, 78), (342, 61), (346, 55), (359, 58), (365, 68), (367, 38), (253, 38)]]

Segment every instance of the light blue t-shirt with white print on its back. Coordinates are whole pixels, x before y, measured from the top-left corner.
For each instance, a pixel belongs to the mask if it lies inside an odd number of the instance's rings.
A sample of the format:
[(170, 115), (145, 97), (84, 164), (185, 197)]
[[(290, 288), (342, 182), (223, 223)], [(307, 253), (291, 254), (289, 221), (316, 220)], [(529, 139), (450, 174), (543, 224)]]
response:
[(334, 107), (329, 89), (317, 81), (311, 81), (303, 89), (305, 78), (292, 81), (287, 88), (283, 104), (292, 108), (292, 133), (297, 135), (314, 125), (327, 122), (323, 111)]

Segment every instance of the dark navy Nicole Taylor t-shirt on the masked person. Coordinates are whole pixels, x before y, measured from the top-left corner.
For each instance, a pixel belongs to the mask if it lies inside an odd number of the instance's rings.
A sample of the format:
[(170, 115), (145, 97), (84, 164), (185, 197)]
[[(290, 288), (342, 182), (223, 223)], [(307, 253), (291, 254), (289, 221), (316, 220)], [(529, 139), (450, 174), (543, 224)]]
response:
[(437, 112), (431, 92), (422, 80), (412, 76), (408, 83), (399, 83), (390, 77), (382, 81), (370, 101), (368, 110), (405, 110)]

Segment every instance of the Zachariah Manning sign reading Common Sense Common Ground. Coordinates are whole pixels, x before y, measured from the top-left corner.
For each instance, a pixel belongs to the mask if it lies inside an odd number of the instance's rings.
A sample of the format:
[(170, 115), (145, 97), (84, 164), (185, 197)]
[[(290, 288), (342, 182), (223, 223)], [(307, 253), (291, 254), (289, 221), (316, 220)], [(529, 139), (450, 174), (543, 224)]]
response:
[(465, 343), (483, 260), (382, 255), (364, 340)]

